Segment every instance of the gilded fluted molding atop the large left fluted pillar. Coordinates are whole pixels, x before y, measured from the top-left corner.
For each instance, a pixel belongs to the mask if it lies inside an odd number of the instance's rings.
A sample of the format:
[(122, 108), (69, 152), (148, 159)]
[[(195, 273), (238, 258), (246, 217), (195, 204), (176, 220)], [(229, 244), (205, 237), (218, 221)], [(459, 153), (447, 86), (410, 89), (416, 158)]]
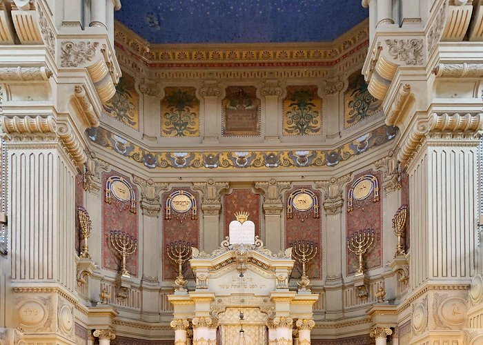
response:
[(0, 128), (8, 135), (30, 135), (41, 133), (54, 134), (61, 139), (64, 148), (77, 165), (81, 166), (86, 160), (86, 153), (67, 123), (57, 121), (52, 115), (43, 117), (0, 117)]

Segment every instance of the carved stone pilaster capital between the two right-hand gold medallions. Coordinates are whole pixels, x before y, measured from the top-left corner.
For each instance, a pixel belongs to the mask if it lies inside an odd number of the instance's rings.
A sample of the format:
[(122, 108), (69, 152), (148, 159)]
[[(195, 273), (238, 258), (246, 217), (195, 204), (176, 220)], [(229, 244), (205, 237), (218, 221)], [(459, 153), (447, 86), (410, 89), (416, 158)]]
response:
[(331, 177), (328, 180), (315, 181), (315, 187), (324, 191), (324, 210), (327, 215), (339, 215), (344, 206), (344, 185), (351, 181), (351, 175)]

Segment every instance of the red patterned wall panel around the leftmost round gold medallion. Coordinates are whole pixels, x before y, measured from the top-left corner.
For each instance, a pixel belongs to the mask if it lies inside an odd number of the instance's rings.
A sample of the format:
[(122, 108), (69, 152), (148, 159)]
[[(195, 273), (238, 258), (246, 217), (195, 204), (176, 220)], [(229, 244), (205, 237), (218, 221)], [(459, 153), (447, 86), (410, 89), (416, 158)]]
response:
[[(110, 244), (110, 232), (112, 230), (124, 231), (125, 233), (128, 233), (129, 235), (137, 239), (139, 244), (139, 216), (137, 212), (132, 213), (128, 205), (126, 205), (126, 207), (122, 207), (123, 205), (115, 202), (114, 196), (112, 196), (113, 201), (110, 204), (106, 202), (106, 181), (111, 176), (120, 176), (126, 179), (126, 181), (129, 181), (135, 193), (135, 210), (138, 209), (139, 197), (137, 193), (137, 187), (132, 184), (132, 181), (129, 179), (129, 177), (113, 170), (111, 172), (104, 172), (102, 174), (102, 241), (104, 244), (102, 246), (102, 268), (119, 272), (119, 270), (121, 269), (121, 258), (119, 257), (119, 255), (117, 255), (116, 250), (112, 248), (112, 245)], [(142, 248), (139, 248), (138, 246), (136, 252), (128, 257), (126, 263), (129, 273), (135, 277), (137, 277), (138, 275), (138, 260), (140, 249), (142, 250)]]

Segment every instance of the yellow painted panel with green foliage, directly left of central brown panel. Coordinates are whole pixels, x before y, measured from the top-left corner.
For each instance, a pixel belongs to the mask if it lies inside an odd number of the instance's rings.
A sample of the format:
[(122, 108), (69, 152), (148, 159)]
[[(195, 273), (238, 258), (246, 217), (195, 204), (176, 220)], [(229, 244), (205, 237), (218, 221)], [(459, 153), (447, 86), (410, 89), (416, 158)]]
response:
[(162, 137), (199, 136), (199, 99), (196, 88), (168, 87), (161, 100)]

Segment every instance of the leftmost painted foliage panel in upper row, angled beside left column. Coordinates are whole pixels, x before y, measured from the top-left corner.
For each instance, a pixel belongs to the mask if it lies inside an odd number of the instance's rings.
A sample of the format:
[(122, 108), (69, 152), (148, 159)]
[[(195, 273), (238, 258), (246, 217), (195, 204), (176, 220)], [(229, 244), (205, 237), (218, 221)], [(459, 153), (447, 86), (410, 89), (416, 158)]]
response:
[(104, 104), (104, 112), (126, 126), (139, 130), (139, 95), (133, 77), (124, 74), (119, 79), (115, 95)]

